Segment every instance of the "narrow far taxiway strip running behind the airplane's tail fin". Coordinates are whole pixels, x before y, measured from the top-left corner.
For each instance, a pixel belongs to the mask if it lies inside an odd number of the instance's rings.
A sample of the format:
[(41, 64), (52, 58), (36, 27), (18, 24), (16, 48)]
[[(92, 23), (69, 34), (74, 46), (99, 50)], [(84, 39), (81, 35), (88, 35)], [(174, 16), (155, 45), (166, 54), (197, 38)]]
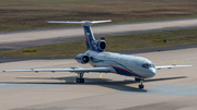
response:
[[(50, 25), (50, 24), (48, 24)], [(118, 36), (197, 27), (197, 19), (93, 25), (95, 37)], [(0, 33), (0, 50), (19, 49), (84, 39), (81, 26)]]

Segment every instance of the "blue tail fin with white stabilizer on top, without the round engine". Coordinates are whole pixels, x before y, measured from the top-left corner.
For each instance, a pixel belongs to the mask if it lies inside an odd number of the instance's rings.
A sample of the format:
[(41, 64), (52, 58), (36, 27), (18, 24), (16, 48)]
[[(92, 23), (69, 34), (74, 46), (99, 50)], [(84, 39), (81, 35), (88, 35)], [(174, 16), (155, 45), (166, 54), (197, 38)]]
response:
[(95, 41), (93, 32), (91, 29), (91, 25), (95, 23), (106, 23), (106, 22), (112, 22), (111, 20), (107, 21), (81, 21), (81, 22), (62, 22), (62, 21), (47, 21), (46, 23), (67, 23), (67, 24), (82, 24), (83, 29), (84, 29), (84, 35), (85, 35), (85, 41), (86, 41), (86, 49), (88, 50), (99, 50), (96, 46), (94, 46), (93, 41)]

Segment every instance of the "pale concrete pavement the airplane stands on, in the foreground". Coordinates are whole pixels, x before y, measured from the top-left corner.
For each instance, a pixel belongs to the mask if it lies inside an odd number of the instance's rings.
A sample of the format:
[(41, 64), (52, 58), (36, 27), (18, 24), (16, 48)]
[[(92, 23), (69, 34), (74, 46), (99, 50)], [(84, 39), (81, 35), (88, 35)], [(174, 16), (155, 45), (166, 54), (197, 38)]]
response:
[[(85, 83), (67, 72), (0, 72), (1, 110), (196, 110), (197, 48), (135, 53), (155, 65), (192, 64), (193, 68), (158, 70), (138, 89), (132, 77), (86, 73)], [(0, 70), (70, 68), (72, 59), (24, 60), (1, 63)]]

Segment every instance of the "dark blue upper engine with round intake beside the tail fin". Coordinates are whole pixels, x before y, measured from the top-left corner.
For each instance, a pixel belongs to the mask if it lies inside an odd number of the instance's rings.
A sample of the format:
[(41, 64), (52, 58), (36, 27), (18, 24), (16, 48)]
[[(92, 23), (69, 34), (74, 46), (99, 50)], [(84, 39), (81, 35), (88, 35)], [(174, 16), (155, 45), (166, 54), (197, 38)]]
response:
[(94, 40), (94, 41), (92, 41), (92, 45), (93, 45), (94, 49), (97, 51), (104, 51), (106, 49), (105, 40)]

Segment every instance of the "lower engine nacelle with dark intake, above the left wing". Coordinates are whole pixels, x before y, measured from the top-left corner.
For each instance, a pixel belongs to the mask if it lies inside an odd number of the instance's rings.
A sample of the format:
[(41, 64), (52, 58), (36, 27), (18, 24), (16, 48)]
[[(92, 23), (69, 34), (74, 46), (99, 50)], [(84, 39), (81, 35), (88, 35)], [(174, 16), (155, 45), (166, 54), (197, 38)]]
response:
[(79, 62), (79, 63), (82, 63), (82, 64), (86, 64), (90, 62), (90, 57), (84, 54), (84, 53), (79, 53), (77, 57), (76, 57), (76, 60)]

